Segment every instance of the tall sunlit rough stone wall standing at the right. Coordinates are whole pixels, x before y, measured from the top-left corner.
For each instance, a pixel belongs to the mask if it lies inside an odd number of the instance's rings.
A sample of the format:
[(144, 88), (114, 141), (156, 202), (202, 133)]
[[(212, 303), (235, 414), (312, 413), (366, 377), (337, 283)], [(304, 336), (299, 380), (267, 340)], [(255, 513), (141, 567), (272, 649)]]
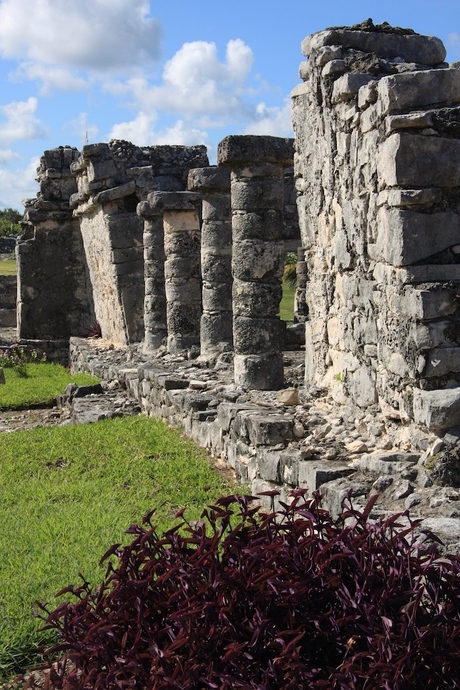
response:
[(307, 386), (455, 426), (460, 70), (439, 39), (370, 20), (302, 49), (292, 97)]

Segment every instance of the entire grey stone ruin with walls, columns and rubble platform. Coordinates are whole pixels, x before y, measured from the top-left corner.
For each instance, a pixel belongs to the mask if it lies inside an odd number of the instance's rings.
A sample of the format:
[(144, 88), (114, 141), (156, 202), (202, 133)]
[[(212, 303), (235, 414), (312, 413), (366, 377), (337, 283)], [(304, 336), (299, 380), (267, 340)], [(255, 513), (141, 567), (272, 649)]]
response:
[[(253, 491), (379, 490), (459, 541), (460, 65), (371, 20), (302, 51), (293, 140), (228, 136), (217, 166), (203, 146), (45, 152), (19, 334), (70, 338), (75, 368), (118, 378)], [(84, 340), (96, 323), (104, 340)]]

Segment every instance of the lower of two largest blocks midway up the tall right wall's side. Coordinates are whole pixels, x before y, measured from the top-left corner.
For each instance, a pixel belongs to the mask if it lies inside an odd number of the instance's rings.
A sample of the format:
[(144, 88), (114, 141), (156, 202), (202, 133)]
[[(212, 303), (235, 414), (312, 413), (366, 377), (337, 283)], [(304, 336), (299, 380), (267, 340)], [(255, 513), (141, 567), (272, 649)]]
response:
[(460, 216), (450, 211), (429, 214), (382, 207), (377, 215), (377, 233), (376, 244), (369, 245), (371, 258), (404, 266), (456, 244)]

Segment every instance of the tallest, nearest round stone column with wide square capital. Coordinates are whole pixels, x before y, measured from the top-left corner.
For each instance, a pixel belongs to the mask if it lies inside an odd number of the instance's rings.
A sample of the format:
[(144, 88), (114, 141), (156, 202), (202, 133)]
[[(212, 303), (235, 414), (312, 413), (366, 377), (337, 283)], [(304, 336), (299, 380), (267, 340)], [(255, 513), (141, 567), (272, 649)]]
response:
[(219, 144), (219, 165), (232, 169), (235, 383), (243, 388), (276, 390), (284, 382), (283, 166), (293, 156), (292, 139), (229, 136)]

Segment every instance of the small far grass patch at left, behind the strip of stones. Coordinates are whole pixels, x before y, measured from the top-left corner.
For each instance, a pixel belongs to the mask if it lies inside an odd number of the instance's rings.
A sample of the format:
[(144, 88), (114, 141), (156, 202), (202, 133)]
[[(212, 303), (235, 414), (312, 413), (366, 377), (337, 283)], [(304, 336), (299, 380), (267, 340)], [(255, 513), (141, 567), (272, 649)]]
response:
[(97, 381), (88, 374), (70, 374), (60, 364), (27, 364), (27, 377), (14, 369), (4, 368), (5, 385), (0, 386), (0, 410), (20, 410), (37, 405), (50, 405), (74, 381), (87, 385)]

